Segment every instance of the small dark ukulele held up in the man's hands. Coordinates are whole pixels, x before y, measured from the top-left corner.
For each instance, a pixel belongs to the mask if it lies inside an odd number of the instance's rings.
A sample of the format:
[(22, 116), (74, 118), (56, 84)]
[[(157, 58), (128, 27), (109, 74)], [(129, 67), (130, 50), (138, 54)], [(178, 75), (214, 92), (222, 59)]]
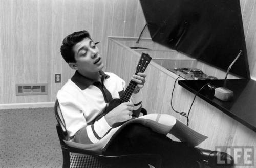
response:
[[(140, 60), (137, 64), (137, 67), (136, 67), (136, 72), (135, 74), (137, 75), (139, 72), (145, 72), (146, 70), (146, 67), (147, 65), (150, 63), (151, 61), (151, 57), (150, 55), (148, 55), (147, 53), (142, 53), (141, 54), (141, 57), (140, 57)], [(95, 121), (98, 121), (101, 117), (105, 116), (106, 114), (109, 113), (109, 111), (111, 111), (112, 109), (114, 109), (115, 107), (117, 107), (118, 105), (124, 103), (124, 102), (128, 102), (135, 90), (137, 86), (137, 83), (134, 82), (134, 81), (130, 81), (129, 85), (127, 86), (127, 88), (125, 89), (125, 91), (123, 92), (123, 94), (121, 95), (120, 99), (113, 99), (110, 101), (109, 105), (106, 107), (106, 109), (103, 111), (103, 113), (101, 113), (100, 115), (98, 115), (94, 122)], [(114, 123), (112, 125), (112, 128), (116, 128), (120, 125), (122, 125), (123, 123), (125, 123), (126, 121), (124, 122), (119, 122), (119, 123)]]

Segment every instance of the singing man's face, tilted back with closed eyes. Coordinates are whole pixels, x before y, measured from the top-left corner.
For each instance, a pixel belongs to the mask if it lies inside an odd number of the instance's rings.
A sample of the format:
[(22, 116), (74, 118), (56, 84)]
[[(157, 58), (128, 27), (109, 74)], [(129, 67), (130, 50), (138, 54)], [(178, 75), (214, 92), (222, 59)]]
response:
[(80, 73), (94, 73), (100, 71), (104, 64), (99, 49), (90, 38), (84, 38), (73, 46), (77, 70)]

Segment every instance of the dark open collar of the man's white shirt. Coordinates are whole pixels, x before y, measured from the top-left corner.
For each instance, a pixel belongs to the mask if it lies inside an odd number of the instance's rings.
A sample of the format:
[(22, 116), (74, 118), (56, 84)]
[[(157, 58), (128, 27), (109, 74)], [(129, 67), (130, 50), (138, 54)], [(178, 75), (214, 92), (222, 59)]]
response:
[[(110, 77), (109, 75), (105, 74), (102, 70), (99, 71), (99, 74), (101, 75), (101, 79), (107, 79)], [(78, 71), (76, 71), (75, 74), (72, 76), (71, 81), (73, 81), (81, 90), (84, 90), (88, 88), (90, 85), (93, 85), (93, 83), (98, 82), (81, 75)]]

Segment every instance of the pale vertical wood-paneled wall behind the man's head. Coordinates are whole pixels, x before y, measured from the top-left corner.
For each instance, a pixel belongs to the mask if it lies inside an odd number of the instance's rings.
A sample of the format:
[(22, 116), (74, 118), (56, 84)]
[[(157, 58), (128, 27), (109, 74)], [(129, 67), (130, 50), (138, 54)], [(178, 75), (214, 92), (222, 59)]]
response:
[[(66, 35), (88, 30), (106, 61), (108, 36), (138, 37), (144, 25), (138, 0), (0, 1), (0, 103), (55, 100), (74, 73), (60, 55)], [(61, 83), (54, 83), (55, 73)], [(16, 83), (48, 83), (49, 92), (16, 96)]]

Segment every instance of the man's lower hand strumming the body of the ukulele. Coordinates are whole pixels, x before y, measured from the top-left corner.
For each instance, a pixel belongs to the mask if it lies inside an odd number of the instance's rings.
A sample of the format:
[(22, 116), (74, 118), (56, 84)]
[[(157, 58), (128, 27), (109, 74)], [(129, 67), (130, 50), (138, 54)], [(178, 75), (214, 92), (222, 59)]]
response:
[(114, 123), (124, 122), (132, 118), (134, 104), (131, 102), (125, 102), (112, 109), (105, 115), (105, 120), (110, 126)]

